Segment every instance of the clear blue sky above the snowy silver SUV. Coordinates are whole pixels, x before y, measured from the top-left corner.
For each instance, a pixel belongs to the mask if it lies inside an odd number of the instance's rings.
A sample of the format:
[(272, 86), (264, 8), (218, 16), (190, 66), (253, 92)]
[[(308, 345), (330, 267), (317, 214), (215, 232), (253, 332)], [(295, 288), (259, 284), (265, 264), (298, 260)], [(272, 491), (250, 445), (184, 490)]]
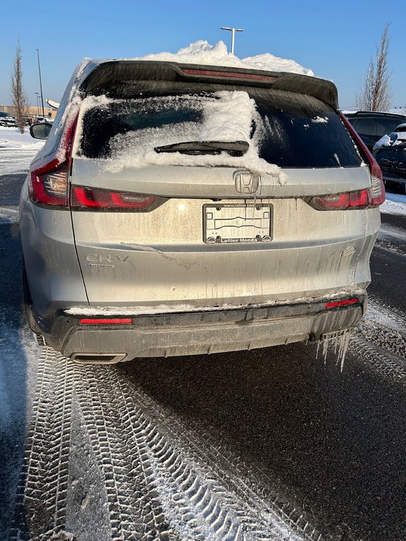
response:
[(76, 64), (91, 58), (129, 58), (176, 52), (198, 39), (230, 46), (240, 58), (269, 52), (292, 58), (333, 80), (340, 106), (352, 108), (369, 59), (390, 23), (389, 68), (393, 106), (406, 106), (405, 8), (381, 0), (69, 0), (44, 4), (6, 1), (1, 8), (0, 104), (11, 104), (10, 75), (18, 39), (23, 85), (30, 104), (39, 92), (39, 49), (44, 98), (61, 99)]

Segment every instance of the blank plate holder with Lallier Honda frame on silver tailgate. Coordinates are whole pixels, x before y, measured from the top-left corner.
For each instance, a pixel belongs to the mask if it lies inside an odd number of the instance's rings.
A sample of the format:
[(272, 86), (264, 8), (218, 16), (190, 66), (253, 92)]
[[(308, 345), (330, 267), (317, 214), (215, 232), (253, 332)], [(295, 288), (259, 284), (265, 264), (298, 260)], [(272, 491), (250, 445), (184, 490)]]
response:
[(207, 244), (270, 242), (271, 216), (270, 204), (203, 205), (203, 240)]

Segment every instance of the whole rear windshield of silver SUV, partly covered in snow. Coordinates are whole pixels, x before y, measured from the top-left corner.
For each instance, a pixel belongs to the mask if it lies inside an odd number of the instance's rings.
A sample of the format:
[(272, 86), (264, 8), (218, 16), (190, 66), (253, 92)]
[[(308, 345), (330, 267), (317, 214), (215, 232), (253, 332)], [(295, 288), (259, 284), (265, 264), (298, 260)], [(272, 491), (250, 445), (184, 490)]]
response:
[(237, 88), (159, 95), (138, 92), (128, 99), (87, 97), (78, 126), (77, 154), (127, 159), (133, 166), (162, 160), (200, 165), (202, 156), (196, 156), (194, 163), (193, 156), (164, 156), (155, 149), (190, 141), (245, 141), (250, 144), (245, 156), (230, 158), (221, 152), (223, 163), (221, 156), (208, 156), (204, 164), (250, 168), (257, 159), (283, 168), (330, 168), (362, 163), (338, 114), (324, 102), (290, 92)]

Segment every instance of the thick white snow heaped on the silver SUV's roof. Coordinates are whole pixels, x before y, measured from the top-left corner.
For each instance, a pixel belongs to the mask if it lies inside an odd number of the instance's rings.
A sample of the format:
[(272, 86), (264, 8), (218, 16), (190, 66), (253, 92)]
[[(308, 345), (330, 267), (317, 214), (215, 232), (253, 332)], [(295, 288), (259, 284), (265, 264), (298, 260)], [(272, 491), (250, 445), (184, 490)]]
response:
[(149, 60), (179, 62), (187, 64), (203, 64), (205, 66), (226, 66), (228, 68), (245, 68), (265, 71), (287, 71), (290, 73), (300, 73), (300, 75), (314, 75), (312, 70), (300, 66), (294, 60), (278, 58), (270, 53), (258, 54), (257, 56), (247, 56), (247, 58), (238, 58), (228, 53), (227, 46), (220, 41), (216, 45), (210, 45), (204, 39), (191, 43), (177, 53), (151, 53), (146, 56), (130, 58), (130, 60)]

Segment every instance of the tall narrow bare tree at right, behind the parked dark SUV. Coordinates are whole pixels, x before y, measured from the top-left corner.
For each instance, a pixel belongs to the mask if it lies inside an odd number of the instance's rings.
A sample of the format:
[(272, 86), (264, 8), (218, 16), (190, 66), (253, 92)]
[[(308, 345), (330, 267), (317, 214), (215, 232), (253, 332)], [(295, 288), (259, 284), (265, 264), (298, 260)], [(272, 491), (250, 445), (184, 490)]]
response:
[(388, 111), (392, 103), (388, 70), (389, 26), (383, 30), (381, 43), (376, 47), (376, 61), (371, 58), (364, 85), (355, 97), (355, 107), (362, 111)]

